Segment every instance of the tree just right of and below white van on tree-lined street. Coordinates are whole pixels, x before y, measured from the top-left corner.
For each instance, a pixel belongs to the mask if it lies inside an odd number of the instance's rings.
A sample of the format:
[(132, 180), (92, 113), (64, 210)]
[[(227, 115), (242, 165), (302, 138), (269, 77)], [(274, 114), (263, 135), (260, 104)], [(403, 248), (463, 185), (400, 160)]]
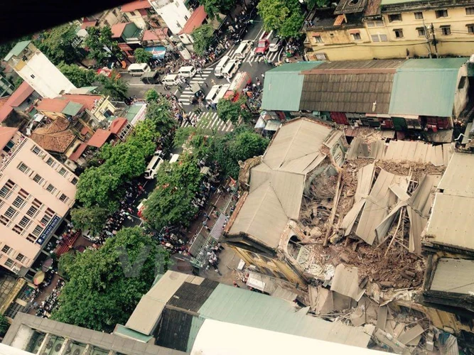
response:
[(156, 190), (144, 203), (144, 218), (157, 230), (170, 225), (188, 226), (198, 212), (191, 202), (202, 179), (193, 155), (183, 155), (178, 163), (163, 163), (156, 176)]

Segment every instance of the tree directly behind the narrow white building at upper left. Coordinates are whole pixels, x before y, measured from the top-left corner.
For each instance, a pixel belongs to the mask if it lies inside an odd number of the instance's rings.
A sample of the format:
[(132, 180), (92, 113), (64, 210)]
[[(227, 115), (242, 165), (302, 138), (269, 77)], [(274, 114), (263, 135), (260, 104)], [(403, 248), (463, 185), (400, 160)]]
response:
[(80, 59), (80, 54), (72, 46), (76, 38), (76, 26), (70, 23), (51, 28), (36, 41), (36, 46), (55, 65), (60, 62), (72, 63)]

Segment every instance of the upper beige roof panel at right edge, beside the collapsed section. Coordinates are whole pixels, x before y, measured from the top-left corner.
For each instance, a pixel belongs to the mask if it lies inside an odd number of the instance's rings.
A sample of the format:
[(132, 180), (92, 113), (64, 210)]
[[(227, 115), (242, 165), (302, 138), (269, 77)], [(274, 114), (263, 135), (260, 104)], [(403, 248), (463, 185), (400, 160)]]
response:
[(474, 155), (454, 153), (438, 189), (448, 195), (474, 197)]

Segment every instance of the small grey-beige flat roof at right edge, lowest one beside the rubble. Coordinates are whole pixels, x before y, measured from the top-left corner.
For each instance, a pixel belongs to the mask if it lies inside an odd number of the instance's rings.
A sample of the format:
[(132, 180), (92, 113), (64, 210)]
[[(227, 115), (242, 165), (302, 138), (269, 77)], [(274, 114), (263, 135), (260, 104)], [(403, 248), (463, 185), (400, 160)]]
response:
[(462, 293), (474, 292), (474, 260), (441, 258), (431, 282), (431, 291)]

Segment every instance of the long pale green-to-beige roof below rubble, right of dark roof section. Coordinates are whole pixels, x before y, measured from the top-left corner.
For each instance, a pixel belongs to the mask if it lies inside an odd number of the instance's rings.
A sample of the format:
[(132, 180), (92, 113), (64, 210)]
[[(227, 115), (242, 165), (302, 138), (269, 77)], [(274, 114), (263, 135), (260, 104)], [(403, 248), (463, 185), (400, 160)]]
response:
[(339, 344), (366, 347), (370, 341), (370, 334), (365, 333), (362, 327), (327, 322), (306, 315), (307, 310), (303, 308), (295, 312), (292, 302), (220, 284), (199, 313), (205, 319)]

